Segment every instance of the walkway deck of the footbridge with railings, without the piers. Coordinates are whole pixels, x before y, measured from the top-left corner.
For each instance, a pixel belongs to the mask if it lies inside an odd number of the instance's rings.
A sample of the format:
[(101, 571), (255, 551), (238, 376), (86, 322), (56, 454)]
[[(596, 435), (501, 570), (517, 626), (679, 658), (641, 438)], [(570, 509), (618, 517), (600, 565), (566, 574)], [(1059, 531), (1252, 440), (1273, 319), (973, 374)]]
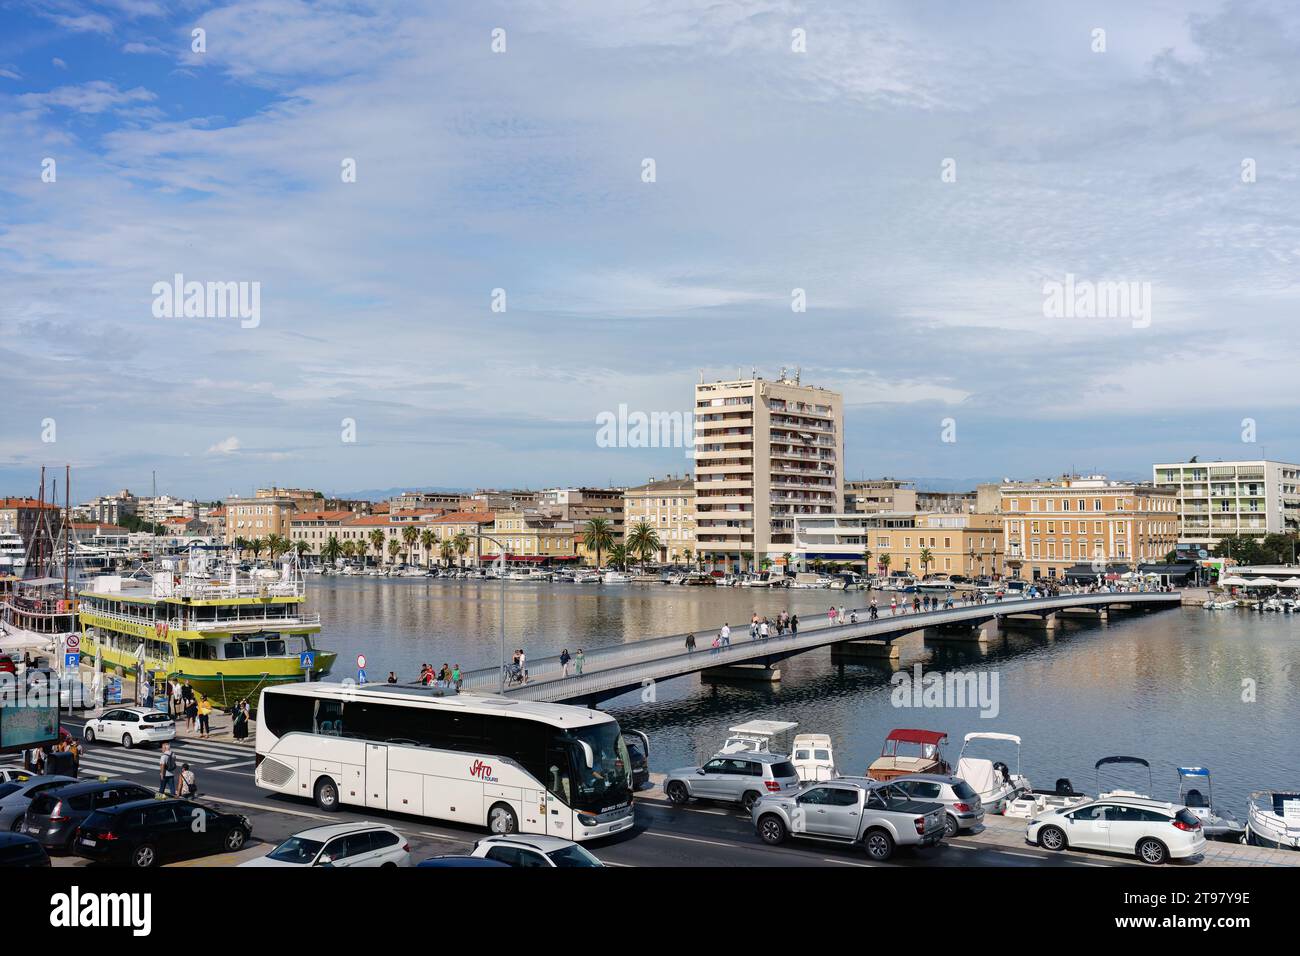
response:
[[(584, 650), (582, 674), (575, 672), (569, 665), (569, 675), (564, 676), (559, 657), (528, 658), (529, 680), (523, 685), (506, 689), (510, 697), (536, 701), (598, 701), (615, 697), (628, 689), (641, 687), (646, 682), (667, 680), (686, 674), (742, 663), (775, 663), (794, 654), (803, 653), (842, 641), (883, 640), (893, 641), (904, 635), (926, 627), (944, 624), (978, 626), (993, 618), (1009, 615), (1037, 614), (1071, 607), (1106, 609), (1112, 605), (1178, 607), (1182, 602), (1178, 592), (1170, 593), (1100, 593), (1065, 594), (1061, 597), (1040, 597), (1015, 601), (991, 601), (979, 605), (965, 605), (950, 610), (923, 611), (920, 614), (889, 615), (885, 607), (876, 620), (858, 620), (857, 624), (831, 624), (826, 615), (818, 619), (801, 619), (797, 636), (771, 636), (767, 640), (750, 640), (749, 623), (737, 622), (732, 628), (732, 643), (725, 648), (712, 648), (718, 628), (696, 633), (697, 648), (686, 652), (685, 635), (651, 637), (628, 644), (615, 644), (606, 648)], [(859, 618), (866, 609), (857, 607)], [(485, 667), (464, 675), (462, 689), (467, 692), (498, 693), (500, 670)]]

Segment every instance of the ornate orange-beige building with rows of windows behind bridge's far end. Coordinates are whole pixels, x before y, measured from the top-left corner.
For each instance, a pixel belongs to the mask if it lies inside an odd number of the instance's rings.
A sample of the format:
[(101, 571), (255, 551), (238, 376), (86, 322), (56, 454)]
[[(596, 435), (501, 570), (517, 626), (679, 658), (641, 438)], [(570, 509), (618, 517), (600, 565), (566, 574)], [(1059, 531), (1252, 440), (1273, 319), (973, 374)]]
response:
[(1006, 564), (1027, 580), (1063, 580), (1075, 566), (1158, 563), (1178, 544), (1170, 488), (1067, 475), (1004, 484), (1001, 494)]

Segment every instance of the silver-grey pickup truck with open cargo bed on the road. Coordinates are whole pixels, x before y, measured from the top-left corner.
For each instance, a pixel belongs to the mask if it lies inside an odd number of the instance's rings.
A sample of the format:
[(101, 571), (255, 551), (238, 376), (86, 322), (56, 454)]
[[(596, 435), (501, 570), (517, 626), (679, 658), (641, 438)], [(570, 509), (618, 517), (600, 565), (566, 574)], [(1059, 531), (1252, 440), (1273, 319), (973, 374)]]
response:
[(894, 782), (837, 777), (798, 793), (764, 796), (751, 810), (763, 843), (789, 836), (858, 844), (878, 862), (894, 847), (933, 847), (944, 839), (944, 805), (914, 800)]

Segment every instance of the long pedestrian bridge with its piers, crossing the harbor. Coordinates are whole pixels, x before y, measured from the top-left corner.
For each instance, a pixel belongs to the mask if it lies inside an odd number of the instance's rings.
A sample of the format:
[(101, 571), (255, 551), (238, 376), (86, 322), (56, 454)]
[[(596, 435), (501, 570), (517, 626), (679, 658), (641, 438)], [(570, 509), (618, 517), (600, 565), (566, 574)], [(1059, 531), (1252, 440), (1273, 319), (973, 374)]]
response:
[[(916, 631), (937, 640), (976, 643), (991, 640), (1004, 626), (1028, 624), (1052, 630), (1062, 615), (1105, 619), (1112, 611), (1165, 610), (1180, 604), (1179, 592), (1104, 592), (988, 601), (919, 614), (890, 615), (884, 607), (876, 620), (864, 619), (868, 614), (864, 607), (846, 606), (846, 611), (857, 610), (858, 623), (832, 624), (826, 615), (819, 615), (816, 620), (801, 619), (797, 636), (786, 633), (784, 637), (774, 635), (766, 640), (751, 640), (749, 623), (745, 622), (732, 628), (732, 643), (725, 648), (711, 646), (718, 636), (716, 628), (696, 632), (697, 646), (693, 652), (686, 650), (684, 633), (593, 648), (584, 650), (582, 674), (576, 674), (571, 662), (568, 676), (560, 667), (559, 657), (529, 657), (528, 683), (508, 687), (504, 693), (519, 700), (597, 704), (650, 683), (689, 674), (772, 679), (775, 665), (816, 648), (832, 646), (852, 657), (889, 659), (898, 656), (893, 643)], [(468, 671), (463, 676), (462, 692), (502, 692), (498, 667)]]

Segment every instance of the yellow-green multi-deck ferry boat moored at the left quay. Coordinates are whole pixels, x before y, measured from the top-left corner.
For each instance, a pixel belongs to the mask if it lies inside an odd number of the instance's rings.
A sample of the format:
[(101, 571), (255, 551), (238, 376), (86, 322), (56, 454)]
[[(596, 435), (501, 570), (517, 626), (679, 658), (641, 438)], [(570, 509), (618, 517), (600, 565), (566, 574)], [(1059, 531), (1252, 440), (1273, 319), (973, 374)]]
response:
[(81, 653), (127, 672), (188, 680), (213, 701), (257, 705), (263, 687), (320, 680), (335, 654), (318, 650), (320, 615), (304, 610), (292, 557), (248, 571), (203, 553), (143, 575), (100, 575), (79, 593)]

